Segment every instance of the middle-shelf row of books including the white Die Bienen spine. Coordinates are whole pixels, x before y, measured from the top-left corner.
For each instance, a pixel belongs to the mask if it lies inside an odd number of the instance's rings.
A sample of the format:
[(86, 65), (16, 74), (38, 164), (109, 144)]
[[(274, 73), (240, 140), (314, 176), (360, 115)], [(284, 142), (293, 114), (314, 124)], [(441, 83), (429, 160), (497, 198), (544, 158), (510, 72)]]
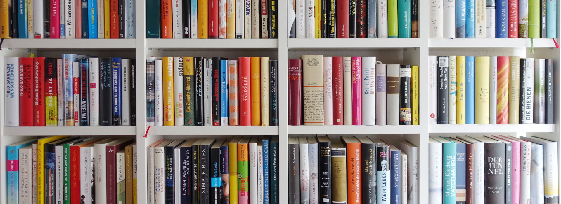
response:
[(429, 56), (429, 124), (553, 124), (553, 60)]

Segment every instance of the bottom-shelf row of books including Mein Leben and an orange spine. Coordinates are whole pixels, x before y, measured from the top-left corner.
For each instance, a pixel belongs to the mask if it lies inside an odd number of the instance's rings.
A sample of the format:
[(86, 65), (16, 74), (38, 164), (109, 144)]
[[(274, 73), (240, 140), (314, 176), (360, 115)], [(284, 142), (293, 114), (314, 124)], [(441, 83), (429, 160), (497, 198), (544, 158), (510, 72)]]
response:
[(369, 137), (288, 138), (288, 203), (419, 203), (417, 147)]

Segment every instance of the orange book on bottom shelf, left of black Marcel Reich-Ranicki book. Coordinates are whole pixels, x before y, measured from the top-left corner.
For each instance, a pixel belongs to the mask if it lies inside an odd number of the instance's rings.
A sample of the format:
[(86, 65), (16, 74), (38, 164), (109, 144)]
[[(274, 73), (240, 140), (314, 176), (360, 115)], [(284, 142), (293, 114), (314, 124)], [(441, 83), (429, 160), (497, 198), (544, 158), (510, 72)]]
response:
[(361, 204), (361, 153), (362, 143), (352, 136), (342, 136), (347, 148), (347, 203)]

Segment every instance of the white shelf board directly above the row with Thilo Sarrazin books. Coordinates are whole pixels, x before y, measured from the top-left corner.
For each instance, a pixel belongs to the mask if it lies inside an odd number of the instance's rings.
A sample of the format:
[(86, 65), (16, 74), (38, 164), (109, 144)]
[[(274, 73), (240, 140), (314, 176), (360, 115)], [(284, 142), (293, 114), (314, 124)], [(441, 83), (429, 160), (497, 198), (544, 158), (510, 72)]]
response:
[(4, 39), (2, 48), (135, 48), (136, 39)]

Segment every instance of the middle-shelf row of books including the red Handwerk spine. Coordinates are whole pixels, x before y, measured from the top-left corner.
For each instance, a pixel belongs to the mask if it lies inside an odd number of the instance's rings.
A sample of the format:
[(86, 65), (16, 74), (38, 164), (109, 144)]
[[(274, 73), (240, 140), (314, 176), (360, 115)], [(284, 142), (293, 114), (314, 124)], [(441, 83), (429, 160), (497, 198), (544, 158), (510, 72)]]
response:
[(148, 125), (278, 126), (278, 61), (192, 56), (146, 60)]

